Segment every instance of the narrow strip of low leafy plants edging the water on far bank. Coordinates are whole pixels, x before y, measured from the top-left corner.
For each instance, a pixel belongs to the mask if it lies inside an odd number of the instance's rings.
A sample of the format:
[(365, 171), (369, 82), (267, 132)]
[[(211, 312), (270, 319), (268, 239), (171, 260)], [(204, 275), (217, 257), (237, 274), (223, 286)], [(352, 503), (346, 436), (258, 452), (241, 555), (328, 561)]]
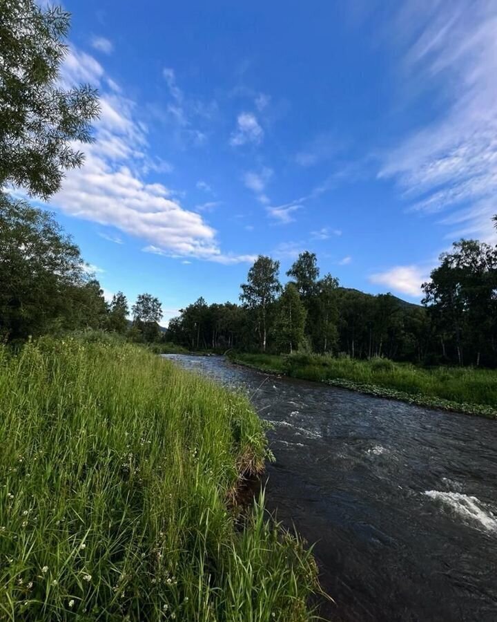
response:
[(307, 382), (315, 382), (316, 384), (327, 384), (329, 386), (335, 386), (337, 388), (355, 391), (355, 393), (363, 393), (364, 395), (381, 397), (383, 399), (395, 399), (397, 402), (415, 404), (416, 406), (431, 408), (433, 410), (446, 411), (447, 413), (458, 413), (460, 415), (471, 415), (473, 417), (485, 417), (485, 419), (497, 420), (497, 409), (491, 408), (491, 406), (453, 402), (449, 399), (444, 399), (442, 397), (417, 395), (416, 393), (407, 393), (405, 391), (387, 388), (378, 384), (364, 384), (344, 378), (326, 379), (320, 381), (306, 378), (304, 375), (300, 376), (285, 374), (282, 373), (280, 370), (275, 370), (274, 368), (263, 368), (255, 364), (247, 363), (246, 361), (242, 361), (240, 359), (237, 359), (237, 357), (233, 356), (226, 356), (225, 358), (235, 365), (240, 365), (241, 367), (257, 370), (268, 375), (295, 378), (298, 380), (305, 380)]

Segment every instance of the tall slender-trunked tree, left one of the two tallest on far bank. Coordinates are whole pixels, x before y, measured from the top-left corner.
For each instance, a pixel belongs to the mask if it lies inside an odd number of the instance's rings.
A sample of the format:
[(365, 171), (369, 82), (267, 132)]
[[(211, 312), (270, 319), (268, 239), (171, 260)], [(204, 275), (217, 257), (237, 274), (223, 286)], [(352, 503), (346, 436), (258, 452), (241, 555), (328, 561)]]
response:
[(242, 283), (242, 300), (247, 308), (255, 310), (257, 316), (257, 332), (262, 341), (262, 351), (266, 351), (267, 339), (267, 315), (269, 305), (275, 300), (280, 292), (281, 285), (278, 281), (280, 262), (273, 261), (271, 257), (258, 256), (254, 265), (249, 270), (247, 282)]

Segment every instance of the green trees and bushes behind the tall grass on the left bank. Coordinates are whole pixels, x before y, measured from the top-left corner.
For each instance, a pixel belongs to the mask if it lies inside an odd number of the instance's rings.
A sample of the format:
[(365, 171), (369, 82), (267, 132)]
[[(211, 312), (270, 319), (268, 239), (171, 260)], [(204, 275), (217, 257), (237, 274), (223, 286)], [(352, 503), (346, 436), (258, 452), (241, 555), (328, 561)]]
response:
[(52, 214), (7, 194), (0, 194), (0, 283), (0, 342), (88, 328), (133, 341), (156, 341), (161, 334), (157, 298), (140, 294), (131, 310), (122, 292), (107, 302)]

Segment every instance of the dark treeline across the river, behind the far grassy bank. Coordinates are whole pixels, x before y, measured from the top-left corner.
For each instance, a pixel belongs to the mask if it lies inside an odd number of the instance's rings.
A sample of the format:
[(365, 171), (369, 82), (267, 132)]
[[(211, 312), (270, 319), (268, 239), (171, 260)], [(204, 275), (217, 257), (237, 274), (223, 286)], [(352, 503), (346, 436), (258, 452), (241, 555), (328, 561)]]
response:
[(329, 352), (420, 364), (497, 366), (497, 247), (472, 240), (440, 256), (420, 284), (422, 306), (392, 294), (372, 296), (320, 278), (304, 252), (279, 281), (280, 264), (260, 256), (241, 285), (242, 304), (203, 298), (169, 323), (167, 339), (192, 350)]

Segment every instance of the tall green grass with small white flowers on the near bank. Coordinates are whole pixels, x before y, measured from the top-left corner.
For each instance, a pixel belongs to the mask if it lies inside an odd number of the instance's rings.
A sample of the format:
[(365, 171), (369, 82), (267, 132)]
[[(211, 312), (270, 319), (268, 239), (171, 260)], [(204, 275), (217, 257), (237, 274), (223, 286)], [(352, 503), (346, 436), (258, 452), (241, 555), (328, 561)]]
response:
[(228, 509), (266, 440), (246, 399), (130, 344), (0, 348), (0, 619), (298, 621), (302, 544)]

